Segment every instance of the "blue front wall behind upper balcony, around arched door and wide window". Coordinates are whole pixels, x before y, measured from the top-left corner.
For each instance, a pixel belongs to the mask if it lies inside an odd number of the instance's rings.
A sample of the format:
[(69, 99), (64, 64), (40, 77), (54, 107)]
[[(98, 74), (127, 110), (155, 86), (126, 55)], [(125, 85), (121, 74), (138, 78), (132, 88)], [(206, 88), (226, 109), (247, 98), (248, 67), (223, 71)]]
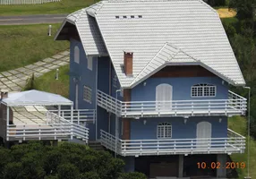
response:
[[(146, 86), (143, 86), (144, 82), (146, 82)], [(226, 99), (228, 96), (226, 84), (223, 85), (222, 80), (218, 77), (149, 78), (132, 89), (132, 101), (156, 100), (156, 87), (161, 83), (173, 86), (173, 100)], [(191, 98), (191, 87), (198, 83), (216, 85), (217, 96), (214, 98)]]

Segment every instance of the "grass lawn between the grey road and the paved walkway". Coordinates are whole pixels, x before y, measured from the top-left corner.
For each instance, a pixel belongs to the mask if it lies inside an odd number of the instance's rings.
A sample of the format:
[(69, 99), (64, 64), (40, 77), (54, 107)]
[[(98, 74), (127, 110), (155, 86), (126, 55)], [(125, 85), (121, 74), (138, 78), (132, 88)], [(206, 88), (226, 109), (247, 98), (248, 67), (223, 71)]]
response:
[[(1, 10), (0, 10), (1, 12)], [(0, 72), (35, 63), (69, 48), (68, 41), (55, 41), (60, 24), (53, 24), (53, 36), (47, 36), (47, 24), (0, 26)]]

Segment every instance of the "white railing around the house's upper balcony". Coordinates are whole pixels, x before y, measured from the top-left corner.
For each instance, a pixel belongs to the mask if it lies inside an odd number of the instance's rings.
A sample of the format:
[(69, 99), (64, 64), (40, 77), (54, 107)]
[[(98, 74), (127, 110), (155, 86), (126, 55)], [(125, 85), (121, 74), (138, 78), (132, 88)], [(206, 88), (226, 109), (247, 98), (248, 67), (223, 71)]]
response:
[(123, 102), (98, 90), (97, 99), (99, 107), (123, 117), (244, 115), (246, 111), (246, 98), (232, 91), (227, 99)]

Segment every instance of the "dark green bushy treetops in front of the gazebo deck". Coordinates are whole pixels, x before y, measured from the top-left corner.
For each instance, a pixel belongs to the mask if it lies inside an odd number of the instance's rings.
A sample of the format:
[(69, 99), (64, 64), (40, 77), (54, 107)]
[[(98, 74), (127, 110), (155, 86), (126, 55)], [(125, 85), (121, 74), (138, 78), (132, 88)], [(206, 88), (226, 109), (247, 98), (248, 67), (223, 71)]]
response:
[(141, 173), (124, 173), (124, 161), (106, 151), (68, 142), (0, 148), (0, 158), (0, 179), (146, 179)]

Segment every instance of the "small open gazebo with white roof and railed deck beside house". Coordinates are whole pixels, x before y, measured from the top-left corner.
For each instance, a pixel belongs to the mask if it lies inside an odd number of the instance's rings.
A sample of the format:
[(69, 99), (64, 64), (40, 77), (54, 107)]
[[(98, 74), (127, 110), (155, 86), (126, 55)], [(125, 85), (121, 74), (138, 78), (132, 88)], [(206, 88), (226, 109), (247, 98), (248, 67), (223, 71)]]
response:
[[(47, 110), (50, 106), (57, 106), (57, 113)], [(69, 120), (64, 118), (62, 106), (70, 107)], [(80, 118), (78, 115), (76, 117)], [(39, 90), (9, 96), (8, 92), (1, 92), (0, 125), (0, 135), (4, 141), (62, 141), (73, 140), (73, 137), (86, 143), (88, 141), (89, 129), (73, 123), (73, 101)]]

